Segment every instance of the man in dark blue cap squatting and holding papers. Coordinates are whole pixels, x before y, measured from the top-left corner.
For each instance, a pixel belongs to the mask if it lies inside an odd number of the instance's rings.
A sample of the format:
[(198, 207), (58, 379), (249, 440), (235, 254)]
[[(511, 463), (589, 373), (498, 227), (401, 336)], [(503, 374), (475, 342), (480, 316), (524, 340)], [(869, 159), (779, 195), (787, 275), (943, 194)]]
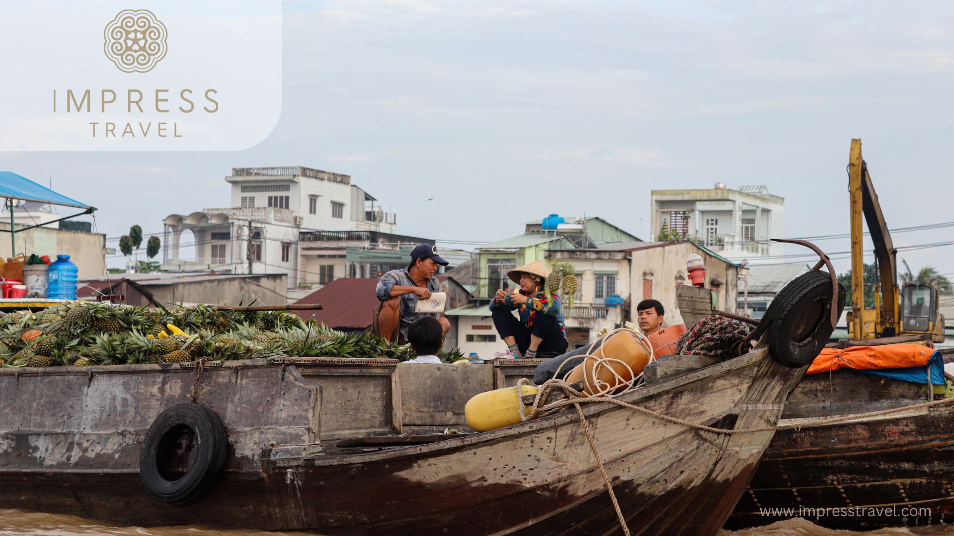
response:
[(434, 274), (439, 266), (446, 265), (447, 261), (437, 255), (436, 247), (420, 244), (411, 251), (411, 263), (407, 268), (391, 270), (378, 280), (376, 294), (381, 300), (378, 326), (384, 339), (406, 342), (407, 328), (422, 317), (434, 317), (440, 321), (443, 335), (447, 335), (450, 322), (442, 315), (415, 312), (419, 298), (428, 299), (431, 293), (440, 291), (441, 283)]

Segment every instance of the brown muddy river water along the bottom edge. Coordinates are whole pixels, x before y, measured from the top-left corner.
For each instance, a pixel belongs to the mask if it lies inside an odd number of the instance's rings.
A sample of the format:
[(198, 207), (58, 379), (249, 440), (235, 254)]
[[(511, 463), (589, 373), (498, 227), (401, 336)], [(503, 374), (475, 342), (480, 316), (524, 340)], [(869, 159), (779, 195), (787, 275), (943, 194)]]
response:
[[(135, 535), (135, 536), (276, 536), (302, 535), (302, 532), (263, 532), (214, 526), (116, 526), (73, 516), (41, 514), (26, 510), (0, 509), (0, 535), (72, 536), (73, 534)], [(881, 528), (868, 532), (829, 530), (805, 519), (780, 521), (770, 526), (744, 530), (722, 530), (718, 536), (954, 536), (954, 525), (922, 526), (915, 528)], [(314, 536), (314, 535), (312, 535)]]

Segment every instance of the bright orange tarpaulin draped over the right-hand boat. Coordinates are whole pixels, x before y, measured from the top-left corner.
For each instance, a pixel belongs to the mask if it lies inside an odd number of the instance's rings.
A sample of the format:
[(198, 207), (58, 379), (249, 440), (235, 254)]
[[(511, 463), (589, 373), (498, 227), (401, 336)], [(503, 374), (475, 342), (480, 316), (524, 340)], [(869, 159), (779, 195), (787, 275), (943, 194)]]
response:
[(927, 366), (934, 354), (933, 348), (922, 344), (884, 344), (882, 346), (849, 346), (844, 349), (825, 348), (812, 361), (805, 374), (819, 374), (840, 368), (879, 369)]

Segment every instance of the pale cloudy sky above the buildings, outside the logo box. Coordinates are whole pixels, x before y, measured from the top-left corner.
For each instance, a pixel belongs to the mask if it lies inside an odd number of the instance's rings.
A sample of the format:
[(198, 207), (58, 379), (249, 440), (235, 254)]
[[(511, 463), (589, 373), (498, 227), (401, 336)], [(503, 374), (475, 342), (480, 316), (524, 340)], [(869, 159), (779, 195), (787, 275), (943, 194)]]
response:
[[(952, 23), (945, 2), (286, 1), (282, 112), (259, 145), (0, 152), (0, 170), (98, 207), (109, 246), (227, 206), (224, 177), (253, 166), (351, 175), (399, 233), (445, 247), (549, 214), (651, 239), (651, 190), (716, 182), (767, 186), (785, 235), (809, 237), (848, 232), (861, 137), (889, 227), (940, 223), (954, 220)], [(901, 257), (954, 272), (954, 246)]]

